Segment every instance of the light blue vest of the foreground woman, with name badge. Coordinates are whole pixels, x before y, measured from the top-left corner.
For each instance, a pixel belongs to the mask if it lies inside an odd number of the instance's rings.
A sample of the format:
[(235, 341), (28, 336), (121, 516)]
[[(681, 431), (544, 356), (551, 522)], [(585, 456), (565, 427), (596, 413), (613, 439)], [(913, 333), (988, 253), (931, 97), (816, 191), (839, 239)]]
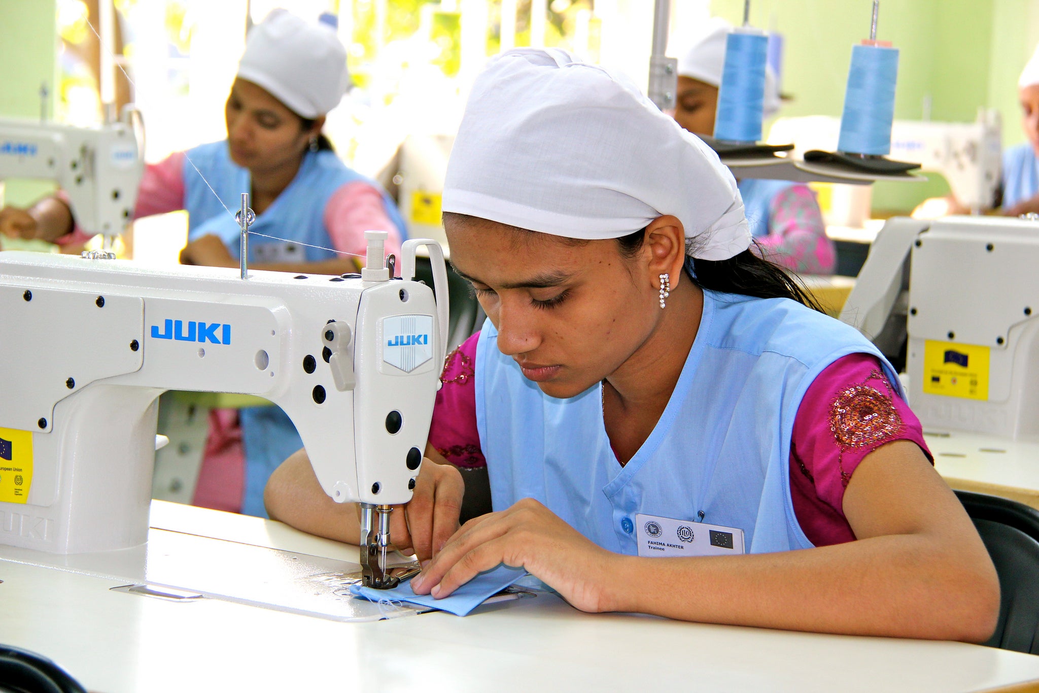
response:
[(603, 424), (602, 385), (549, 397), (498, 350), (497, 334), (488, 320), (475, 380), (495, 510), (533, 498), (600, 547), (629, 555), (638, 553), (636, 513), (740, 528), (748, 553), (810, 548), (790, 497), (790, 441), (804, 392), (855, 352), (880, 358), (900, 388), (880, 352), (842, 322), (785, 298), (704, 291), (670, 401), (622, 468)]

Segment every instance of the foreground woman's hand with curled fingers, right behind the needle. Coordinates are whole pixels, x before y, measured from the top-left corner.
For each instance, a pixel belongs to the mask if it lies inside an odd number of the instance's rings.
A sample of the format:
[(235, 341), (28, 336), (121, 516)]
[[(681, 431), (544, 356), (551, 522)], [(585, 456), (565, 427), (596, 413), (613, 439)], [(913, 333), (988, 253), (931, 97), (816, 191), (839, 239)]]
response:
[(458, 531), (465, 483), (452, 464), (428, 457), (416, 479), (415, 495), (406, 505), (394, 506), (390, 537), (401, 552), (411, 552), (423, 565)]

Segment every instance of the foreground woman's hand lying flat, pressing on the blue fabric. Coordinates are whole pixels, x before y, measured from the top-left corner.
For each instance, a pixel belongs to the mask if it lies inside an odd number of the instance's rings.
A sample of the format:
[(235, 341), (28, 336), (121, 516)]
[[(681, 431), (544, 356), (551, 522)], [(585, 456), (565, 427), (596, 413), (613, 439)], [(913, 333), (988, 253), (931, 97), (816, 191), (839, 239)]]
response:
[(462, 525), (411, 580), (416, 594), (448, 596), (499, 564), (523, 566), (581, 611), (615, 611), (622, 557), (595, 545), (533, 499)]

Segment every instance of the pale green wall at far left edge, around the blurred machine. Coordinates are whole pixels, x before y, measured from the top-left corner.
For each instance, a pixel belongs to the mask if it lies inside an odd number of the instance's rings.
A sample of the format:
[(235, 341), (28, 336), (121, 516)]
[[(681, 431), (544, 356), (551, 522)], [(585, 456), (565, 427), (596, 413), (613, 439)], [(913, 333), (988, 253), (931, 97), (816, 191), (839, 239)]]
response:
[[(54, 115), (57, 79), (55, 0), (0, 0), (0, 116), (39, 117), (39, 86), (50, 91)], [(7, 204), (26, 205), (53, 189), (41, 181), (4, 182)]]

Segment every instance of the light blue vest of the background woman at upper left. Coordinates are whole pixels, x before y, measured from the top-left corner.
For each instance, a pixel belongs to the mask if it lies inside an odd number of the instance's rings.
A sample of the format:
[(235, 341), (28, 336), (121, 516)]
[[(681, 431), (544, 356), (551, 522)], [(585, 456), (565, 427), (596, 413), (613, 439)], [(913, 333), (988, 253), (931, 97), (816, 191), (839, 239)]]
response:
[[(248, 169), (231, 160), (227, 141), (202, 144), (188, 150), (185, 155), (188, 160), (184, 164), (184, 209), (188, 212), (188, 239), (195, 240), (207, 234), (215, 234), (223, 240), (231, 254), (238, 258), (240, 231), (233, 213), (241, 207), (242, 193), (251, 190)], [(325, 207), (332, 193), (354, 181), (379, 187), (348, 168), (335, 152), (308, 152), (292, 183), (263, 214), (257, 216), (250, 229), (268, 236), (307, 243), (308, 245), (297, 246), (300, 261), (317, 262), (336, 258), (338, 256), (331, 250), (312, 246), (331, 247), (331, 238), (324, 225)], [(400, 231), (401, 240), (406, 239), (404, 222), (396, 205), (385, 192), (382, 194), (387, 216)], [(231, 214), (224, 209), (224, 205), (231, 210)], [(257, 262), (257, 246), (269, 243), (284, 244), (284, 241), (250, 236), (249, 261)], [(240, 417), (245, 450), (242, 512), (266, 517), (263, 489), (267, 485), (267, 478), (289, 455), (303, 447), (303, 443), (292, 421), (276, 406), (245, 408), (241, 410)]]

